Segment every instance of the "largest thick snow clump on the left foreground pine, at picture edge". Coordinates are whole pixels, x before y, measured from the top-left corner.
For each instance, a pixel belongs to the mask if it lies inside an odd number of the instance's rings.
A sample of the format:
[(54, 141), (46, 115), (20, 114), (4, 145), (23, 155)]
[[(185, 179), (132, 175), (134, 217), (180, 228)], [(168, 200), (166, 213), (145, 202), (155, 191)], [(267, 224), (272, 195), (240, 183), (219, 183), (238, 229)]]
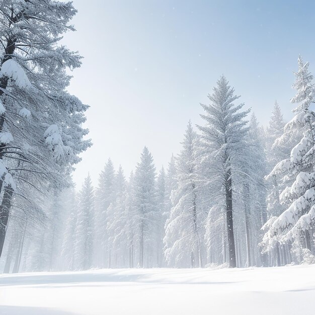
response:
[(29, 89), (32, 84), (22, 66), (13, 59), (5, 61), (0, 69), (0, 77), (10, 77), (19, 89)]

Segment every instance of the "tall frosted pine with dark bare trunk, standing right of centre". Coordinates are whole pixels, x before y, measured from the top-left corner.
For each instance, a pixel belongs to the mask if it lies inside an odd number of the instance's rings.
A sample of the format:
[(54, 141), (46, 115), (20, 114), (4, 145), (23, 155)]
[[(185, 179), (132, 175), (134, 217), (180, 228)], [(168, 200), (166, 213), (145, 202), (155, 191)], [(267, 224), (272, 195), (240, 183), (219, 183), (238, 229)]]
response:
[[(211, 161), (210, 169), (206, 174), (211, 174), (212, 183), (222, 185), (225, 204), (225, 220), (227, 226), (227, 243), (229, 266), (236, 267), (236, 254), (233, 231), (233, 177), (240, 170), (239, 162), (242, 158), (243, 148), (246, 146), (248, 133), (247, 121), (244, 119), (249, 113), (241, 111), (244, 104), (234, 105), (239, 98), (234, 95), (234, 89), (228, 85), (224, 75), (217, 81), (213, 94), (208, 95), (209, 105), (203, 105), (205, 114), (204, 126), (198, 126), (202, 132), (201, 141), (204, 147), (205, 161)], [(209, 156), (211, 158), (209, 159)], [(209, 176), (209, 175), (208, 175)], [(211, 184), (209, 184), (211, 185)], [(214, 186), (214, 184), (213, 184)], [(210, 213), (210, 212), (209, 212)]]

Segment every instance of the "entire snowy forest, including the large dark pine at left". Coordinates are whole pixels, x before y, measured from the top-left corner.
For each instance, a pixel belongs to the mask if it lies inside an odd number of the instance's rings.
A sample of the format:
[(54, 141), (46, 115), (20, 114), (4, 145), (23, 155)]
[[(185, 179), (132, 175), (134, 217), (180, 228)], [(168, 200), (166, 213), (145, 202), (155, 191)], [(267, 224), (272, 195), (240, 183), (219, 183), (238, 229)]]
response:
[(81, 56), (60, 44), (75, 14), (70, 2), (0, 1), (0, 271), (315, 263), (309, 63), (292, 69), (289, 121), (275, 101), (261, 125), (221, 75), (165, 168), (143, 143), (131, 174), (109, 159), (96, 186), (88, 175), (75, 187), (92, 145), (89, 106), (67, 92)]

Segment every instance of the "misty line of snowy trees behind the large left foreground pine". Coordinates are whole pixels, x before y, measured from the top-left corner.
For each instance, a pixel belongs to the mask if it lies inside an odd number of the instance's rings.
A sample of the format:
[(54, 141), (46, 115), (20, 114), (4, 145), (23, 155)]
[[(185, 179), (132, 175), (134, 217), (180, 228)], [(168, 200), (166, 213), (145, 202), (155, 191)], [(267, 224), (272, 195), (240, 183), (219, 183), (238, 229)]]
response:
[(55, 188), (42, 225), (12, 224), (5, 271), (313, 263), (312, 80), (299, 57), (292, 120), (275, 102), (263, 128), (221, 76), (166, 170), (145, 146), (128, 179), (109, 159), (96, 188)]

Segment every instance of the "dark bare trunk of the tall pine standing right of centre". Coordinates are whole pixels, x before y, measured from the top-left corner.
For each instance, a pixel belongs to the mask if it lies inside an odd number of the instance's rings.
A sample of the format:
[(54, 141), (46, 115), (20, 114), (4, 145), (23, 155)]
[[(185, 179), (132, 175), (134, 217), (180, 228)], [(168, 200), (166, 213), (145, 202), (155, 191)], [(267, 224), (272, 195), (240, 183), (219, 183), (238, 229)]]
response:
[(233, 231), (233, 211), (232, 211), (232, 179), (231, 172), (227, 171), (225, 175), (225, 202), (226, 202), (226, 225), (229, 267), (236, 267), (234, 231)]

